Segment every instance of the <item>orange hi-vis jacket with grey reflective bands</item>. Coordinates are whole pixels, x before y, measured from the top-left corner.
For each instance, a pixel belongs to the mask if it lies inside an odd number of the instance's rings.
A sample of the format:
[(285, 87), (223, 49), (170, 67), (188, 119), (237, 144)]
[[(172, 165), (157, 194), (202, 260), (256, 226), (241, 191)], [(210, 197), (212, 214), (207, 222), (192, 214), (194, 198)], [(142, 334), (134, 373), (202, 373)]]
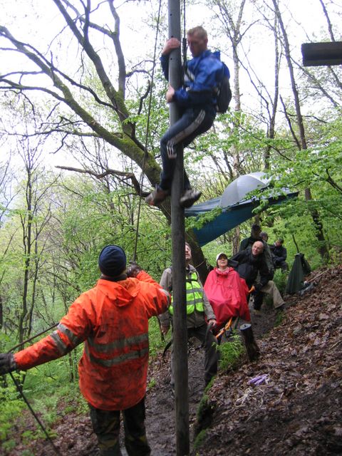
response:
[(80, 389), (101, 410), (133, 407), (146, 393), (148, 319), (165, 312), (170, 294), (145, 271), (123, 281), (98, 280), (71, 305), (57, 331), (14, 355), (26, 370), (84, 343)]

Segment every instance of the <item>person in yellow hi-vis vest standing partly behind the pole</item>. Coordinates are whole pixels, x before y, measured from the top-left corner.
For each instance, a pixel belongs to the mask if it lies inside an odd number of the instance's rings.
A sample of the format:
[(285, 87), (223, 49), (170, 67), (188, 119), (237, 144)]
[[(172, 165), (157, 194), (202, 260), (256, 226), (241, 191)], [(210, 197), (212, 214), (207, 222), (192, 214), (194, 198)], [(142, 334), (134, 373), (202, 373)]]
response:
[[(187, 289), (187, 337), (196, 337), (204, 345), (204, 383), (207, 385), (213, 375), (217, 373), (217, 340), (211, 331), (207, 331), (207, 325), (216, 325), (216, 317), (212, 306), (204, 293), (199, 274), (191, 261), (190, 245), (185, 243), (186, 264), (186, 289)], [(160, 279), (163, 289), (172, 294), (172, 267), (165, 269)], [(169, 309), (160, 315), (162, 333), (166, 334), (172, 322), (174, 302), (171, 301)], [(171, 388), (175, 386), (173, 349), (171, 351)]]

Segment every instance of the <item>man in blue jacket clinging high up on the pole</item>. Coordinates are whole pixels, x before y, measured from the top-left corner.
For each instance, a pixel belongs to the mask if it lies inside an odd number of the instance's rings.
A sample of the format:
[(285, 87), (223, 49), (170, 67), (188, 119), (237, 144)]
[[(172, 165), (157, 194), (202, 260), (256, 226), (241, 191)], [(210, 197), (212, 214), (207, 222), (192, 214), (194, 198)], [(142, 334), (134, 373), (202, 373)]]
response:
[[(187, 62), (184, 86), (175, 90), (172, 86), (166, 93), (167, 103), (177, 103), (181, 117), (171, 125), (160, 140), (162, 155), (162, 174), (160, 185), (147, 196), (146, 202), (158, 206), (170, 195), (172, 177), (175, 171), (177, 145), (184, 147), (198, 135), (209, 130), (216, 116), (217, 103), (215, 89), (222, 81), (224, 67), (219, 52), (207, 49), (207, 32), (201, 26), (187, 32), (187, 43), (192, 53), (192, 60)], [(162, 71), (168, 81), (169, 57), (172, 50), (180, 47), (177, 38), (170, 38), (162, 50)], [(201, 196), (201, 192), (192, 190), (187, 174), (184, 175), (184, 194), (180, 198), (183, 207), (190, 207)]]

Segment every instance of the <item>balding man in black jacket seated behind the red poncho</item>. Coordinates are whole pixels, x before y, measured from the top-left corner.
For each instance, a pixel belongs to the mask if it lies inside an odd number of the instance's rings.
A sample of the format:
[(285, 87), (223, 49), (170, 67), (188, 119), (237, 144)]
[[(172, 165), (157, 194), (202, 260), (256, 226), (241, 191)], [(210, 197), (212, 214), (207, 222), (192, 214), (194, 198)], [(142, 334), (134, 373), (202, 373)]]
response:
[[(245, 249), (238, 252), (232, 257), (232, 260), (239, 264), (235, 267), (239, 276), (247, 283), (249, 289), (254, 287), (254, 313), (259, 314), (264, 294), (261, 289), (271, 279), (269, 268), (266, 264), (264, 256), (264, 243), (256, 241), (252, 245), (252, 249)], [(259, 273), (259, 279), (257, 281)]]

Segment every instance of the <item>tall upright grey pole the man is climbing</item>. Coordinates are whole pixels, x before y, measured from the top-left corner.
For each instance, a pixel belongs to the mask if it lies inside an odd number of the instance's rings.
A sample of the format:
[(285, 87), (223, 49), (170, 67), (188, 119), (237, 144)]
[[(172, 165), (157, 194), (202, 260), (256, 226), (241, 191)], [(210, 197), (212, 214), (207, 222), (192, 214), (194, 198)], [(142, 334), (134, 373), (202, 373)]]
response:
[[(181, 40), (180, 0), (169, 0), (169, 38)], [(177, 89), (182, 83), (181, 49), (170, 54), (169, 81)], [(175, 103), (170, 103), (170, 125), (180, 118)], [(172, 294), (175, 302), (173, 315), (173, 351), (175, 366), (175, 420), (176, 454), (186, 456), (190, 452), (189, 393), (187, 371), (187, 311), (185, 293), (185, 222), (184, 209), (180, 207), (183, 191), (183, 147), (177, 147), (175, 175), (171, 193), (172, 232)]]

